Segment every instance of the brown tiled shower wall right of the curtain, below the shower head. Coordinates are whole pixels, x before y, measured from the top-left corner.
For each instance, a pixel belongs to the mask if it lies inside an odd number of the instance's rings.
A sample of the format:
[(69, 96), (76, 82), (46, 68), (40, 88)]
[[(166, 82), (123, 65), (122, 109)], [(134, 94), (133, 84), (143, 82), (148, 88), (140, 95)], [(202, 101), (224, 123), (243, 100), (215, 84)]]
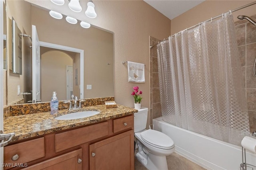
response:
[[(256, 15), (251, 16), (256, 20)], [(256, 77), (253, 66), (256, 57), (256, 26), (247, 20), (235, 22), (236, 39), (243, 70), (243, 81), (249, 114), (250, 131), (256, 131)]]

